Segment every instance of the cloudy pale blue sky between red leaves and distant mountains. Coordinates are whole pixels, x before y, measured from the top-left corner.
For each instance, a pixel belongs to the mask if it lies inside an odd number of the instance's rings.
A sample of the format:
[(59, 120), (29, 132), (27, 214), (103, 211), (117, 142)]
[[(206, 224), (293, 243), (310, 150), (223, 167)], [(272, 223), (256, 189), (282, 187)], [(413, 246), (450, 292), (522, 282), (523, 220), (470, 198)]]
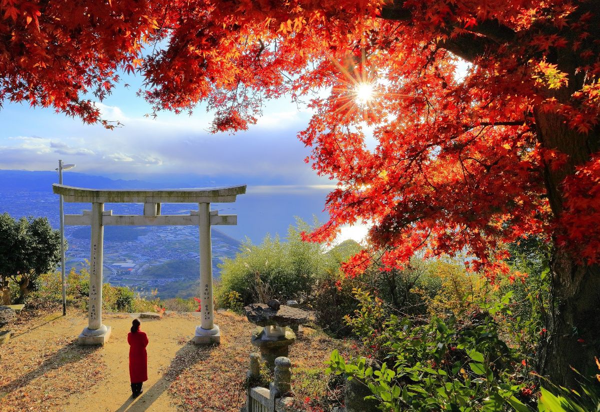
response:
[(77, 163), (79, 172), (112, 177), (179, 173), (215, 181), (239, 176), (265, 184), (326, 181), (304, 163), (310, 149), (296, 138), (310, 113), (296, 111), (290, 102), (268, 103), (257, 125), (231, 135), (210, 134), (211, 115), (200, 108), (191, 117), (160, 113), (151, 119), (130, 102), (109, 99), (97, 106), (105, 119), (122, 123), (113, 130), (48, 109), (5, 105), (0, 111), (0, 123), (7, 126), (0, 132), (0, 168), (49, 169), (63, 159)]

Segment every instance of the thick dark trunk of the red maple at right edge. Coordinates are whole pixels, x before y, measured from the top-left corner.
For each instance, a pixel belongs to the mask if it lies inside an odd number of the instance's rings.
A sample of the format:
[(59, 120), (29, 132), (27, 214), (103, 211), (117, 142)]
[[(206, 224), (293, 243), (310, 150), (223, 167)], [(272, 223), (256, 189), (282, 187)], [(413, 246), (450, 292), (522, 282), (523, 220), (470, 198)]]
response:
[[(565, 101), (572, 90), (563, 90)], [(535, 111), (538, 140), (546, 149), (569, 156), (564, 168), (545, 168), (548, 201), (559, 219), (563, 213), (562, 183), (598, 151), (598, 131), (578, 134), (557, 114)], [(572, 245), (573, 246), (573, 245)], [(600, 357), (600, 267), (587, 266), (574, 255), (576, 247), (554, 246), (550, 272), (551, 299), (548, 338), (539, 354), (539, 372), (555, 384), (577, 388), (577, 369), (586, 377), (599, 373), (595, 357)], [(581, 379), (578, 379), (581, 380)]]

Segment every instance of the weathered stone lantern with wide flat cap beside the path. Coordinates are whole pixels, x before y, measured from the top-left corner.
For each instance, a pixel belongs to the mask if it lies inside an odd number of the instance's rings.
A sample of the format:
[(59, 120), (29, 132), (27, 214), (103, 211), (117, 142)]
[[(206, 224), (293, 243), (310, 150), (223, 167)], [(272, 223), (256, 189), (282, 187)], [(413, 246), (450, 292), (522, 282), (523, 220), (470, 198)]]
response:
[(270, 369), (275, 367), (275, 358), (289, 355), (289, 346), (296, 334), (289, 326), (308, 322), (308, 312), (281, 305), (275, 299), (267, 304), (255, 303), (244, 308), (251, 323), (258, 325), (252, 335), (252, 344), (260, 349), (260, 356)]

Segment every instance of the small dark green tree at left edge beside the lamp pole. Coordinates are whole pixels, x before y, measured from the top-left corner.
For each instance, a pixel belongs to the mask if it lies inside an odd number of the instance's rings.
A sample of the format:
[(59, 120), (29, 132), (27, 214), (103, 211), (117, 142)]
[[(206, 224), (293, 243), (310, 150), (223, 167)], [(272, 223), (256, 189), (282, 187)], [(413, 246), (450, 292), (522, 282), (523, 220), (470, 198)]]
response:
[(37, 286), (38, 277), (56, 269), (61, 259), (61, 238), (46, 217), (0, 215), (0, 276), (19, 285), (17, 302)]

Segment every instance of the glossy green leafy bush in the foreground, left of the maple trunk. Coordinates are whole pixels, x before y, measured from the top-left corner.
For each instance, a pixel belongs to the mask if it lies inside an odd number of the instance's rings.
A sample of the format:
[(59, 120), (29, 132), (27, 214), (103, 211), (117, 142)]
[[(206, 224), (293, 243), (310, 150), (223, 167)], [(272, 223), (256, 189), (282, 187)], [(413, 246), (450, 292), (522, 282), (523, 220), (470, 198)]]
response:
[(332, 353), (327, 372), (358, 378), (385, 411), (500, 411), (525, 387), (520, 354), (500, 338), (494, 314), (509, 312), (510, 294), (462, 317), (427, 322), (385, 313), (382, 301), (356, 290), (349, 319), (367, 358)]

